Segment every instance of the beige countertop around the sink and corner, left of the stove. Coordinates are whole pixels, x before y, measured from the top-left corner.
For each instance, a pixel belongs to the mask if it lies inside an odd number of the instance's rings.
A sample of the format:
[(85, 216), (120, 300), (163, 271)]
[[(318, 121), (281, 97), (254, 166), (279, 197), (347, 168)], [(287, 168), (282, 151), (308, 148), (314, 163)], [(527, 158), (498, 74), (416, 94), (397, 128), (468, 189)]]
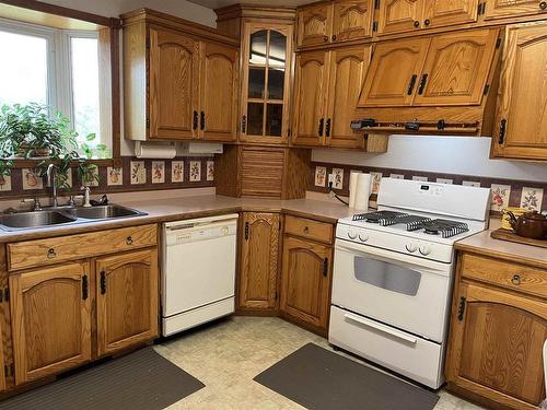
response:
[(339, 219), (350, 216), (354, 213), (353, 210), (345, 204), (313, 199), (269, 200), (231, 198), (220, 195), (158, 198), (153, 200), (117, 200), (116, 203), (138, 209), (139, 211), (146, 212), (147, 215), (86, 222), (72, 225), (47, 226), (14, 232), (0, 230), (0, 243), (71, 235), (115, 227), (170, 222), (241, 211), (284, 212), (303, 218), (313, 218), (315, 220), (329, 223), (336, 223)]

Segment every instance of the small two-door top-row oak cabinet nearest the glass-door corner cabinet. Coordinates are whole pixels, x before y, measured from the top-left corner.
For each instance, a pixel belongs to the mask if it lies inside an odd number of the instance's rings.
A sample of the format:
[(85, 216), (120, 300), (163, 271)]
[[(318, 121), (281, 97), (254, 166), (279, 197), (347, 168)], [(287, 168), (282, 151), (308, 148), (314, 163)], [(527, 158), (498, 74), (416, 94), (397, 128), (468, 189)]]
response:
[(298, 11), (298, 47), (329, 45), (372, 36), (374, 0), (329, 1)]

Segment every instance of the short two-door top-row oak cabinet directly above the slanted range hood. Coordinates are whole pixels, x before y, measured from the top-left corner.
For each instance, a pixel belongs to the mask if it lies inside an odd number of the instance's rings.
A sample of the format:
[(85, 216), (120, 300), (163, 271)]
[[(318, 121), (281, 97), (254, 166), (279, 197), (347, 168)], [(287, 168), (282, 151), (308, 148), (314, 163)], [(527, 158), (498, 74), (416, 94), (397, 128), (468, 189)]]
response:
[(380, 3), (379, 34), (474, 23), (478, 4), (479, 0), (385, 0)]

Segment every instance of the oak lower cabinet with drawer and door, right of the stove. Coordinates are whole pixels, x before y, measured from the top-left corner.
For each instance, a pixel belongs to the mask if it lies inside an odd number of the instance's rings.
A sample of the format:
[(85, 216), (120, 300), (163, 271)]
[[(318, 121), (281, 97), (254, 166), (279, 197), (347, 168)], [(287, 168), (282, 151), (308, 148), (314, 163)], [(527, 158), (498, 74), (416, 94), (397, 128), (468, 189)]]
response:
[(475, 254), (459, 256), (446, 358), (449, 388), (512, 409), (545, 398), (547, 271)]

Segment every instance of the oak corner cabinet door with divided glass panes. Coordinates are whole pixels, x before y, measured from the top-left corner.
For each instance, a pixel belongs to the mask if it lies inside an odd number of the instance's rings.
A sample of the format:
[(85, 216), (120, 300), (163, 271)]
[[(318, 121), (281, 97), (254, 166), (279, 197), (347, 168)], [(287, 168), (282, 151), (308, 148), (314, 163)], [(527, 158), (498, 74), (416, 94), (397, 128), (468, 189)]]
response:
[(242, 141), (288, 141), (292, 32), (292, 25), (245, 25)]

